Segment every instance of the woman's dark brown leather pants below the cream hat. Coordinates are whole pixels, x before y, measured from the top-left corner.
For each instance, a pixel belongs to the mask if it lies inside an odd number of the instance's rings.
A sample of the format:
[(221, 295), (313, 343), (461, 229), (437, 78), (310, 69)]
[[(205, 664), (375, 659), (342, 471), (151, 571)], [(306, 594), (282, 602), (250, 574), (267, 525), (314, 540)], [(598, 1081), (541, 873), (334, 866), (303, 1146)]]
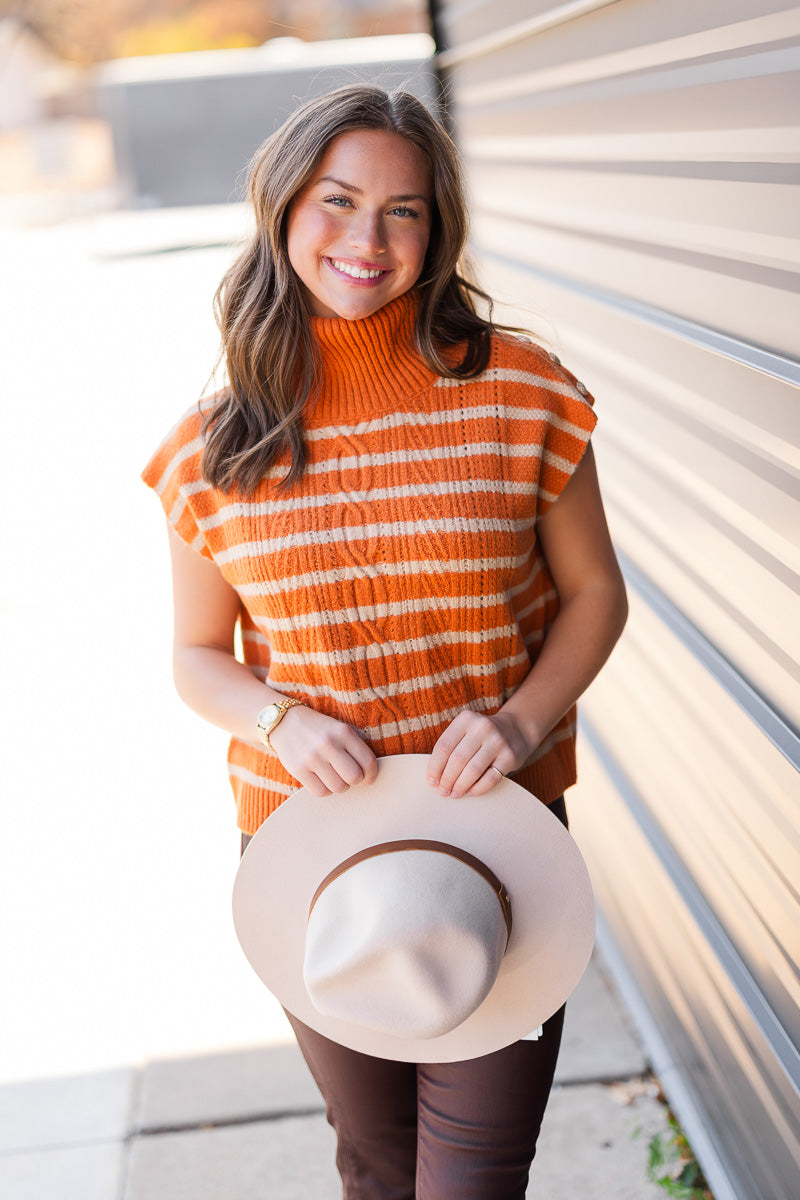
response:
[[(563, 798), (551, 811), (567, 824)], [(343, 1200), (524, 1200), (563, 1008), (537, 1042), (421, 1064), (348, 1050), (287, 1016), (336, 1130)]]

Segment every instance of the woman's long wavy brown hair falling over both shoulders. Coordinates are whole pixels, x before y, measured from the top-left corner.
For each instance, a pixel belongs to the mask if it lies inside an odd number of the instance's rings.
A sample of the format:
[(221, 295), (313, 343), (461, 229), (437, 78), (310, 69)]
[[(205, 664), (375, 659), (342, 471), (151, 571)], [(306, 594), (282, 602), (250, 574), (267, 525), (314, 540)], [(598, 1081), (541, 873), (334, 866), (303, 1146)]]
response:
[[(353, 130), (383, 130), (408, 138), (425, 156), (433, 180), (431, 240), (415, 288), (420, 296), (416, 346), (441, 376), (471, 378), (489, 356), (492, 302), (463, 264), (467, 205), (458, 151), (410, 92), (369, 85), (338, 88), (295, 110), (260, 146), (249, 166), (248, 194), (255, 233), (215, 295), (228, 386), (205, 422), (203, 475), (223, 491), (253, 491), (284, 451), (305, 466), (302, 413), (313, 394), (317, 349), (300, 282), (289, 263), (287, 218), (294, 197), (317, 170), (330, 143)], [(480, 298), (488, 318), (475, 307)], [(447, 347), (464, 346), (453, 365)], [(443, 353), (444, 352), (444, 353)]]

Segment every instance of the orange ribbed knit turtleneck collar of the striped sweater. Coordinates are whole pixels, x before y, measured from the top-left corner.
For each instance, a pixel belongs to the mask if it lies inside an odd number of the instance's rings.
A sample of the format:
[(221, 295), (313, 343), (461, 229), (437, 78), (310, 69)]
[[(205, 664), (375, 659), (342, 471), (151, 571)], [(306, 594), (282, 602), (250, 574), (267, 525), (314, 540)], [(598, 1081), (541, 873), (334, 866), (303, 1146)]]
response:
[(419, 298), (407, 292), (363, 320), (312, 317), (321, 378), (311, 424), (393, 412), (435, 380), (414, 344), (417, 306)]

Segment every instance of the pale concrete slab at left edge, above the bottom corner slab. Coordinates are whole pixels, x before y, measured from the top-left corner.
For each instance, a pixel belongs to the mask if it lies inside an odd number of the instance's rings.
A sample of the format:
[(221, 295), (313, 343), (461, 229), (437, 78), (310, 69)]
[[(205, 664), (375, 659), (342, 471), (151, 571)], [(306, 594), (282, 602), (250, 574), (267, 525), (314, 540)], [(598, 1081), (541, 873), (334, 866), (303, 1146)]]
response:
[(38, 1079), (0, 1087), (0, 1153), (122, 1140), (131, 1130), (138, 1072)]

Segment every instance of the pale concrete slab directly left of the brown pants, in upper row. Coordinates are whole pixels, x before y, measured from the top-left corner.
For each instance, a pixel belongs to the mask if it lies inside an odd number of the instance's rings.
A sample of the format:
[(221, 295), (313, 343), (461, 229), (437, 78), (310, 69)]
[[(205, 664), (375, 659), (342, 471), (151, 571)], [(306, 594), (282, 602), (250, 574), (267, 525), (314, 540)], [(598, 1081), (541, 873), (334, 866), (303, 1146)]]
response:
[(154, 1062), (144, 1069), (137, 1128), (169, 1129), (323, 1110), (295, 1045)]

